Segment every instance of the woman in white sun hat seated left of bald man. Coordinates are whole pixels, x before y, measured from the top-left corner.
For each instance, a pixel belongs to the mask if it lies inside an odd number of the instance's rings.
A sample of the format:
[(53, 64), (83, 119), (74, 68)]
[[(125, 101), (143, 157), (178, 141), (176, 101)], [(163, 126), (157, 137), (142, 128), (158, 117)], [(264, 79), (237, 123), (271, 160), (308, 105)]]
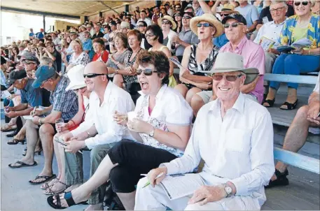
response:
[[(74, 129), (81, 127), (81, 124), (85, 121), (90, 121), (89, 111), (89, 98), (91, 92), (87, 90), (85, 85), (85, 79), (83, 78), (85, 66), (78, 64), (71, 68), (67, 73), (70, 80), (69, 86), (66, 88), (66, 92), (69, 90), (74, 90), (78, 94), (78, 112), (76, 115), (69, 120), (69, 122), (62, 124), (61, 126), (56, 126), (57, 134), (53, 137), (53, 147), (55, 149), (55, 157), (57, 159), (58, 175), (55, 179), (50, 182), (46, 182), (41, 185), (41, 189), (46, 195), (60, 194), (62, 191), (66, 190), (67, 184), (65, 184), (65, 163), (64, 163), (64, 147), (58, 143), (65, 142), (70, 138), (76, 136), (77, 134), (73, 132)], [(74, 187), (73, 187), (74, 188)]]

